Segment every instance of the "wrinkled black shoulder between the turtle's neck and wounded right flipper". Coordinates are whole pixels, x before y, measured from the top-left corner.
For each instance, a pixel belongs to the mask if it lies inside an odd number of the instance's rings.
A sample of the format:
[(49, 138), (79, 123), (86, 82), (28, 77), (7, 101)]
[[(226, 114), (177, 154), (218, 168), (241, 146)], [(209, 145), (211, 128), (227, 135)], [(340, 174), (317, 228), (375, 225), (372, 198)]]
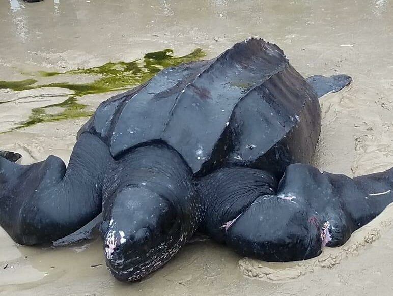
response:
[(228, 229), (256, 199), (275, 194), (277, 180), (262, 170), (233, 167), (201, 178), (197, 188), (205, 210), (200, 230), (223, 243)]

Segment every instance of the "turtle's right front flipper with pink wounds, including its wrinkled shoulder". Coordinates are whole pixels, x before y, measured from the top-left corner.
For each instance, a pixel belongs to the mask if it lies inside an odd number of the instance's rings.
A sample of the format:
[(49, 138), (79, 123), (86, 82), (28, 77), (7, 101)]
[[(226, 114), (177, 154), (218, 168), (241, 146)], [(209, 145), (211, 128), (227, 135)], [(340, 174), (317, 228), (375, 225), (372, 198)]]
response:
[[(303, 260), (318, 256), (323, 246), (340, 246), (393, 202), (393, 169), (351, 179), (292, 164), (274, 193), (252, 180), (250, 172), (258, 175), (258, 170), (225, 170), (225, 179), (212, 174), (202, 181), (210, 187), (200, 185), (207, 200), (207, 232), (236, 252), (265, 261)], [(265, 172), (260, 175), (267, 179)], [(211, 220), (222, 224), (220, 235)]]

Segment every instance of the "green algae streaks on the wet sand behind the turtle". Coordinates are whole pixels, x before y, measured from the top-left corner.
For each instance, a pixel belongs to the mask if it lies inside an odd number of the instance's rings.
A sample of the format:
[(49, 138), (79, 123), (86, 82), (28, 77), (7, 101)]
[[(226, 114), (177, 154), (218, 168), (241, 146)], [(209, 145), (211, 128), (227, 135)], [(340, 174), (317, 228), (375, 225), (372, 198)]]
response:
[[(13, 128), (14, 130), (37, 123), (91, 116), (93, 112), (86, 111), (85, 108), (87, 105), (78, 103), (77, 97), (133, 88), (138, 84), (149, 80), (165, 67), (200, 60), (205, 55), (206, 54), (201, 48), (197, 48), (184, 56), (174, 56), (174, 51), (172, 49), (164, 49), (161, 51), (146, 53), (143, 59), (130, 62), (107, 62), (101, 66), (87, 69), (73, 69), (64, 73), (46, 71), (37, 72), (37, 76), (41, 77), (59, 76), (63, 74), (88, 75), (96, 77), (93, 82), (89, 83), (54, 82), (33, 85), (37, 82), (37, 80), (26, 79), (21, 81), (0, 81), (0, 88), (11, 88), (14, 91), (20, 91), (40, 87), (60, 87), (74, 92), (64, 102), (33, 109), (29, 118), (25, 122), (22, 122), (17, 127)], [(50, 107), (62, 107), (63, 110), (55, 114), (48, 114), (45, 109)]]

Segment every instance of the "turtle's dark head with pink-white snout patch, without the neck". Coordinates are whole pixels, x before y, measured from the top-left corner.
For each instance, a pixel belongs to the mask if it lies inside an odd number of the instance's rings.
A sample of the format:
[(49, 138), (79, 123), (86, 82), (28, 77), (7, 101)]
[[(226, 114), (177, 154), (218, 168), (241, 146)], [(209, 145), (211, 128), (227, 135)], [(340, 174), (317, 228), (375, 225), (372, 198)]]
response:
[(184, 244), (176, 207), (145, 187), (117, 191), (101, 225), (106, 265), (120, 281), (136, 281), (160, 268)]

